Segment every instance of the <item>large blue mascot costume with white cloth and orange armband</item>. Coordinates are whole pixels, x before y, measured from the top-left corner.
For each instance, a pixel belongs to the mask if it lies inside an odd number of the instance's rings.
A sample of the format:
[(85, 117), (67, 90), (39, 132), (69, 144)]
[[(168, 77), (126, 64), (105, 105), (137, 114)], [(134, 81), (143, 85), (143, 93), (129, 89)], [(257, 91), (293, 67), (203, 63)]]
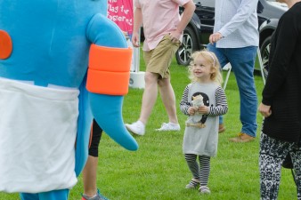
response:
[(93, 117), (138, 145), (122, 119), (131, 49), (107, 0), (0, 0), (0, 191), (66, 200)]

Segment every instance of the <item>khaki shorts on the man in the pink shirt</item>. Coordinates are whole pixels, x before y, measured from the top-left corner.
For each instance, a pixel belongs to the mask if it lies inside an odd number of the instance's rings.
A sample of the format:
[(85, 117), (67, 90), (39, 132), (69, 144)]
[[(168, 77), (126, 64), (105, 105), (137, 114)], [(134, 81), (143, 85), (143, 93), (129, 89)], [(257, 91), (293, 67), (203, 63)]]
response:
[(169, 78), (169, 66), (180, 44), (180, 41), (173, 43), (167, 34), (155, 49), (150, 52), (143, 52), (146, 71), (159, 74), (160, 78)]

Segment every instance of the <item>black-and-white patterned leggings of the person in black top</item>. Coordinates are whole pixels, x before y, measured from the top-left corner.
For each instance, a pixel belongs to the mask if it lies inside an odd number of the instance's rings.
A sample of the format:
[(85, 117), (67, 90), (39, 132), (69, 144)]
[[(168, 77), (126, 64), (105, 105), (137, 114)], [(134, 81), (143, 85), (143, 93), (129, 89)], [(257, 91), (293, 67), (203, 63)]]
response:
[(297, 143), (275, 140), (261, 134), (259, 152), (260, 196), (275, 200), (281, 181), (281, 163), (290, 154), (297, 184), (297, 199), (301, 200), (301, 147)]

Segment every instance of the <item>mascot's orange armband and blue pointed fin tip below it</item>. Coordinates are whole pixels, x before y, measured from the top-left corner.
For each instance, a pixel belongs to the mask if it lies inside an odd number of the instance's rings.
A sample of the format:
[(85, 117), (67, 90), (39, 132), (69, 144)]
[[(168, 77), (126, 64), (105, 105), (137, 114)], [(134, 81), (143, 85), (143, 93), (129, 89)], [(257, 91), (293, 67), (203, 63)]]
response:
[(92, 44), (86, 88), (94, 118), (102, 130), (122, 147), (136, 150), (138, 144), (122, 119), (122, 95), (128, 92), (131, 59), (132, 49)]

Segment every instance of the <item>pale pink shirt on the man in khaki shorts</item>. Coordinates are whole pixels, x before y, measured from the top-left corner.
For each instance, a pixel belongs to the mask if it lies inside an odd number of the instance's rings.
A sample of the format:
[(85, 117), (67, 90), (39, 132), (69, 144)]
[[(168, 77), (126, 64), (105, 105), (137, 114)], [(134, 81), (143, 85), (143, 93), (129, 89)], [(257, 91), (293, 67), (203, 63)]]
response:
[(143, 51), (156, 48), (164, 35), (174, 31), (180, 22), (179, 6), (190, 0), (134, 0), (141, 8), (145, 41)]

